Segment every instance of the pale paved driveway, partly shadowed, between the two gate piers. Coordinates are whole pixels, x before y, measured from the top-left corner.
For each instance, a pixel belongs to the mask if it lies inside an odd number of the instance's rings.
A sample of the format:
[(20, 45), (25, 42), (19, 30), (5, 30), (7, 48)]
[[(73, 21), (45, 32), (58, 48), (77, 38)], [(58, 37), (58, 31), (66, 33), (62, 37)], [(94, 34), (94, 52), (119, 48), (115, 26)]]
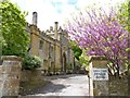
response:
[[(26, 95), (26, 98), (44, 96), (89, 96), (89, 82), (87, 75), (72, 74), (72, 75), (56, 75), (47, 77), (50, 83), (44, 87), (38, 87)], [(39, 97), (39, 98), (40, 98)], [(51, 98), (51, 97), (49, 97)], [(84, 97), (86, 98), (86, 97)]]

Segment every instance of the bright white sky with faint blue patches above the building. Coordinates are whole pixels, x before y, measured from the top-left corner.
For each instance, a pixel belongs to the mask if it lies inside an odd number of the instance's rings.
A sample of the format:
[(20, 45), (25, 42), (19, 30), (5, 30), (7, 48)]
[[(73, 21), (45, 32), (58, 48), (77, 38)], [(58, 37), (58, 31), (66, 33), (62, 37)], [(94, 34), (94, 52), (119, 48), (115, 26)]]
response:
[(86, 9), (88, 5), (96, 3), (103, 8), (107, 8), (108, 3), (115, 5), (125, 0), (11, 0), (16, 3), (22, 11), (27, 11), (26, 21), (31, 24), (32, 12), (38, 13), (38, 27), (41, 30), (50, 28), (54, 22), (63, 25), (66, 19), (72, 16), (77, 9)]

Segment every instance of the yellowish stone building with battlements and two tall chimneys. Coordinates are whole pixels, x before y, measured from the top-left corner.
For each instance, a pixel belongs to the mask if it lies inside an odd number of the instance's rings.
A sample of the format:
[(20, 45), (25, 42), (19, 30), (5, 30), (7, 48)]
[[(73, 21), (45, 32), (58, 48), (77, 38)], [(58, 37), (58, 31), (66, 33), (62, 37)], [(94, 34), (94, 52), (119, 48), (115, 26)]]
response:
[(69, 47), (67, 32), (54, 22), (54, 28), (41, 32), (37, 27), (37, 12), (32, 13), (32, 24), (27, 24), (30, 36), (29, 53), (40, 57), (44, 72), (66, 73), (74, 70), (74, 52)]

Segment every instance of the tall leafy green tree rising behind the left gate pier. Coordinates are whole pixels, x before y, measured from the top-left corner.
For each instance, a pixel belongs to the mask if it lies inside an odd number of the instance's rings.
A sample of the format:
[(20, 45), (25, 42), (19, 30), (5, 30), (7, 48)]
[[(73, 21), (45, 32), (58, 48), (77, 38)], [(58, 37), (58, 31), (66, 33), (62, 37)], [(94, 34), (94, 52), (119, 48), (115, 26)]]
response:
[(2, 54), (23, 56), (27, 51), (29, 36), (25, 32), (26, 13), (9, 0), (0, 2)]

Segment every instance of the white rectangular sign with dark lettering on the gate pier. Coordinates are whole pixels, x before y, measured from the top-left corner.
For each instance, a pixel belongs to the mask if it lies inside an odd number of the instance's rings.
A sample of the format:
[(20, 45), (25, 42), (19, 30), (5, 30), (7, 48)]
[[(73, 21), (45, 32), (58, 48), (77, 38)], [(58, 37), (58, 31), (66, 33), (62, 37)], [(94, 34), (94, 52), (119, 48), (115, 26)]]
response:
[(108, 70), (93, 69), (93, 81), (108, 81)]

